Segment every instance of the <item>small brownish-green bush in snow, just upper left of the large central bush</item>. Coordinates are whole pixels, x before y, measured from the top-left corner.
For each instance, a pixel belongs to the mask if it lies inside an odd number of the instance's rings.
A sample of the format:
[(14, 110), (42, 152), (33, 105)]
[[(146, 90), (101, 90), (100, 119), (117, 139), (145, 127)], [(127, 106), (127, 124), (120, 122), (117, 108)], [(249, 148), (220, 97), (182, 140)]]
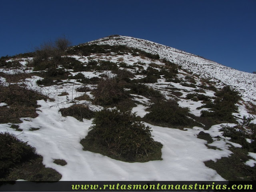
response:
[(79, 121), (83, 121), (85, 119), (91, 119), (94, 117), (94, 112), (91, 111), (88, 106), (84, 104), (74, 104), (68, 108), (60, 109), (62, 116), (72, 116)]

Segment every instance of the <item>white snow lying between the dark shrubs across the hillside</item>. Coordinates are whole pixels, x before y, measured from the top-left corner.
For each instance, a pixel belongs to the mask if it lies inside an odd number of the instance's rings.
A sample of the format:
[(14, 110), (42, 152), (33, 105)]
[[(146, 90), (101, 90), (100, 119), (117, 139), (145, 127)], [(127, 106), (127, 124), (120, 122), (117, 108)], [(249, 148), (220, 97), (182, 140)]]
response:
[[(194, 74), (198, 74), (203, 78), (210, 78), (214, 81), (220, 80), (219, 85), (228, 84), (239, 90), (245, 100), (256, 100), (256, 75), (222, 66), (216, 62), (200, 58), (196, 55), (189, 54), (174, 48), (156, 44), (147, 40), (136, 39), (126, 36), (117, 36), (112, 38), (102, 38), (100, 40), (88, 42), (88, 44), (109, 44), (109, 45), (126, 45), (132, 48), (138, 48), (152, 54), (159, 54), (160, 58), (166, 58), (176, 64), (182, 66), (182, 69), (188, 69)], [(91, 54), (90, 56), (72, 55), (86, 65), (88, 59), (108, 60), (118, 63), (120, 59), (128, 65), (136, 62), (148, 64), (154, 62), (158, 65), (164, 65), (161, 61), (153, 61), (149, 58), (141, 58), (140, 56), (115, 55), (113, 54)], [(26, 59), (20, 61), (23, 65), (26, 64)], [(1, 72), (14, 73), (14, 70), (1, 69)], [(78, 72), (72, 72), (72, 76)], [(85, 77), (99, 77), (104, 72), (81, 72)], [(111, 72), (107, 72), (110, 74)], [(180, 78), (184, 77), (178, 74)], [(136, 76), (142, 78), (142, 76)], [(184, 128), (184, 130), (154, 126), (148, 123), (146, 125), (152, 128), (154, 140), (163, 144), (162, 158), (163, 160), (150, 161), (144, 163), (128, 163), (114, 160), (101, 154), (96, 154), (89, 151), (84, 151), (80, 140), (88, 134), (89, 127), (92, 126), (92, 120), (84, 119), (83, 122), (76, 118), (67, 116), (63, 117), (59, 110), (72, 106), (74, 98), (81, 96), (81, 92), (76, 91), (76, 88), (82, 86), (82, 83), (69, 77), (67, 80), (62, 80), (64, 84), (53, 86), (38, 86), (36, 80), (42, 79), (38, 76), (27, 78), (27, 88), (32, 90), (40, 90), (42, 94), (54, 98), (55, 101), (38, 100), (36, 118), (22, 118), (22, 123), (18, 124), (23, 130), (23, 134), (11, 128), (11, 123), (0, 124), (0, 132), (11, 132), (19, 135), (18, 138), (23, 141), (28, 141), (28, 144), (36, 148), (36, 152), (44, 157), (43, 163), (46, 167), (54, 168), (62, 174), (61, 180), (224, 180), (215, 170), (205, 166), (204, 162), (208, 160), (220, 159), (228, 157), (232, 152), (229, 150), (231, 145), (241, 147), (239, 144), (232, 143), (224, 138), (219, 131), (221, 125), (214, 125), (209, 130), (204, 130), (201, 127)], [(71, 80), (70, 80), (71, 79)], [(2, 82), (6, 79), (0, 77)], [(199, 80), (196, 80), (199, 83)], [(8, 82), (6, 82), (8, 84)], [(89, 85), (88, 85), (89, 86)], [(93, 86), (93, 85), (90, 85)], [(182, 86), (179, 83), (165, 82), (163, 78), (158, 80), (156, 84), (150, 84), (161, 92), (166, 92), (167, 88), (172, 86), (180, 89), (183, 94), (182, 98), (188, 93), (194, 92), (194, 88)], [(59, 96), (60, 93), (67, 92), (68, 96)], [(90, 92), (86, 92), (90, 97), (93, 97)], [(214, 96), (214, 92), (206, 90), (206, 96)], [(200, 111), (196, 108), (202, 106), (201, 101), (195, 102), (180, 98), (178, 104), (183, 107), (189, 107), (190, 112), (195, 116), (200, 116)], [(133, 112), (137, 112), (138, 116), (145, 116), (146, 107), (142, 104), (148, 102), (148, 98), (134, 95), (134, 100), (139, 101), (133, 108)], [(71, 102), (72, 101), (72, 102)], [(79, 104), (86, 104), (93, 110), (100, 110), (101, 106), (95, 106), (90, 101), (76, 101)], [(6, 104), (0, 103), (0, 106)], [(248, 115), (244, 106), (240, 107), (240, 113), (237, 115)], [(30, 128), (40, 128), (36, 131), (30, 131)], [(214, 150), (206, 146), (207, 141), (197, 138), (200, 131), (210, 134), (214, 142), (209, 146), (215, 146), (220, 150)], [(220, 138), (214, 138), (220, 136)], [(255, 155), (251, 153), (251, 155)], [(254, 156), (255, 157), (255, 156)], [(63, 159), (67, 165), (60, 166), (55, 164), (54, 159)], [(248, 164), (254, 165), (255, 160), (250, 160)]]

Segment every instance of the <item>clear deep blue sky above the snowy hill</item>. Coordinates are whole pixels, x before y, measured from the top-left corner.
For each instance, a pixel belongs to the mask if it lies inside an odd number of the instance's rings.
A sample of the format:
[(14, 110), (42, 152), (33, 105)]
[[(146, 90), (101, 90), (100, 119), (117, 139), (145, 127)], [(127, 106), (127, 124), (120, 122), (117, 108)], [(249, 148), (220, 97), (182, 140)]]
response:
[(0, 0), (0, 56), (66, 36), (142, 38), (256, 71), (255, 0)]

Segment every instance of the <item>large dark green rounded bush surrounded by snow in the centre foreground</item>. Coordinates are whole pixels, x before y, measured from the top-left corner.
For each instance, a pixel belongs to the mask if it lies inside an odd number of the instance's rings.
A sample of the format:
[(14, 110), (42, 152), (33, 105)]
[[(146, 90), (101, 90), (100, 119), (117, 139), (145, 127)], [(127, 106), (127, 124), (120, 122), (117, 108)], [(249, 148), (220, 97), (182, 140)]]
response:
[(84, 150), (127, 162), (161, 159), (162, 144), (155, 142), (150, 127), (135, 113), (104, 108), (96, 113), (91, 131), (81, 140)]

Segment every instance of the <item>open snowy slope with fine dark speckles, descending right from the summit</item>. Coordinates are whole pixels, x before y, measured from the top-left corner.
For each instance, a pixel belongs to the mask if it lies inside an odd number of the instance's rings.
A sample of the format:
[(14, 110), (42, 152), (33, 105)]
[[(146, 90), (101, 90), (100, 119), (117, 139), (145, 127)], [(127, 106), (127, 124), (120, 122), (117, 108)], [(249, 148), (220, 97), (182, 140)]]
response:
[(125, 45), (131, 48), (138, 48), (152, 54), (159, 54), (160, 58), (166, 58), (176, 64), (179, 64), (183, 69), (192, 71), (194, 74), (198, 74), (202, 78), (215, 78), (224, 84), (232, 86), (241, 92), (244, 99), (247, 101), (256, 100), (255, 74), (226, 67), (175, 48), (127, 36), (106, 37), (88, 42), (88, 44)]

